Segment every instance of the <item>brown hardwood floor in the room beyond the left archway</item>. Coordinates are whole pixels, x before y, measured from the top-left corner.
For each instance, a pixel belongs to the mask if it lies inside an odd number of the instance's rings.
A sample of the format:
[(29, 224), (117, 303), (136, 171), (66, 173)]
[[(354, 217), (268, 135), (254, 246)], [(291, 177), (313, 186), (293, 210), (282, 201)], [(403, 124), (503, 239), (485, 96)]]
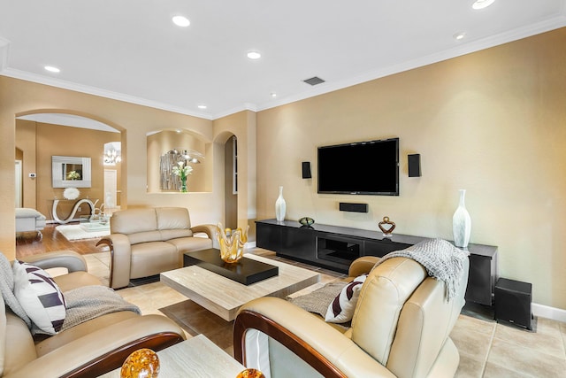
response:
[(57, 226), (57, 224), (46, 225), (42, 231), (42, 239), (34, 232), (19, 233), (16, 236), (16, 257), (62, 250), (71, 250), (82, 255), (108, 251), (106, 246), (96, 247), (96, 243), (100, 240), (99, 238), (69, 242), (63, 234), (57, 231)]

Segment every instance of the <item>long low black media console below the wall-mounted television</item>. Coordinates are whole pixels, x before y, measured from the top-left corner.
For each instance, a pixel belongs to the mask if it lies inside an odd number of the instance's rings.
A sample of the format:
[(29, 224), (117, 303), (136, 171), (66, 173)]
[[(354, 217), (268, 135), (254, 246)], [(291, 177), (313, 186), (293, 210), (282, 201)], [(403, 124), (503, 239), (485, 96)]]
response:
[[(314, 224), (302, 226), (294, 220), (257, 220), (256, 245), (336, 272), (348, 273), (353, 260), (361, 256), (385, 256), (424, 241), (425, 237), (397, 235), (386, 238), (380, 231)], [(492, 305), (498, 278), (497, 247), (470, 244), (470, 274), (466, 300)]]

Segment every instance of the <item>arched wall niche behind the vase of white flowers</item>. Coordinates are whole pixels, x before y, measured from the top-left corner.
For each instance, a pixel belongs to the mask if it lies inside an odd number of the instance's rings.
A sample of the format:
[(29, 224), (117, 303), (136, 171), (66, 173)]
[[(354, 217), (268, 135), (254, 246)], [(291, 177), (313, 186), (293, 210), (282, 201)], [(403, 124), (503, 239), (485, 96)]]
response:
[(147, 135), (147, 166), (148, 192), (179, 194), (177, 189), (162, 189), (162, 156), (170, 150), (194, 150), (203, 155), (200, 163), (190, 164), (193, 172), (187, 178), (189, 192), (212, 191), (212, 143), (207, 142), (203, 135), (187, 129), (165, 128), (150, 132)]

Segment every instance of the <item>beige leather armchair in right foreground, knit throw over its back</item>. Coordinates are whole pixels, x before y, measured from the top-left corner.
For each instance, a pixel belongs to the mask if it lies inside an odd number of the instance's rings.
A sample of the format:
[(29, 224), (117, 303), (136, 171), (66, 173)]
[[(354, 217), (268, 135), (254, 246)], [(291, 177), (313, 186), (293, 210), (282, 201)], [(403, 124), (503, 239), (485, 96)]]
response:
[[(349, 275), (369, 272), (376, 261), (356, 260)], [(449, 334), (464, 305), (468, 267), (466, 259), (448, 302), (444, 282), (415, 260), (386, 260), (363, 283), (345, 331), (283, 299), (256, 299), (234, 320), (234, 357), (266, 377), (453, 377), (459, 355)]]

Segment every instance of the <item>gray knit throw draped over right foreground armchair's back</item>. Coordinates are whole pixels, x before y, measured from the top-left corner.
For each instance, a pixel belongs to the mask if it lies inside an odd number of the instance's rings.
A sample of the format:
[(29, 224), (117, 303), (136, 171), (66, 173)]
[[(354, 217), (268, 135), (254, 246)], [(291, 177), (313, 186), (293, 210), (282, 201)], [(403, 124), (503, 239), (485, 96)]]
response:
[(445, 283), (447, 299), (450, 300), (458, 292), (464, 261), (468, 256), (470, 252), (462, 251), (446, 240), (429, 239), (406, 250), (390, 252), (375, 266), (388, 258), (412, 258), (424, 266), (428, 275)]

